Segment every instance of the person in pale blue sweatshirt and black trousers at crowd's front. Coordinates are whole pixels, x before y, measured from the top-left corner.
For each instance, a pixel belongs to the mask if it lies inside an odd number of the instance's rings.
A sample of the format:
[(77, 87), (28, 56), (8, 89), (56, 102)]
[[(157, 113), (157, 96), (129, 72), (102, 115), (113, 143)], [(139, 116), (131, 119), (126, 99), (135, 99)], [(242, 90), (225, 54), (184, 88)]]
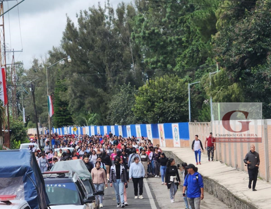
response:
[[(143, 195), (143, 178), (145, 176), (145, 169), (142, 163), (139, 163), (139, 158), (134, 158), (134, 163), (131, 164), (129, 169), (129, 179), (133, 179), (135, 199), (144, 199)], [(138, 197), (139, 186), (139, 197)]]

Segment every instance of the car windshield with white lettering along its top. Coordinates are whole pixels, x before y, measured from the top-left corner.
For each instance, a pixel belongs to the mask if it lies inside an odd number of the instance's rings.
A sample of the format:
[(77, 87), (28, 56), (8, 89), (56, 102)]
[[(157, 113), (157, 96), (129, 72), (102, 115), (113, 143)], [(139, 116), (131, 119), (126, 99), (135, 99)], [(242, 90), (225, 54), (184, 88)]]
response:
[(46, 184), (50, 205), (81, 205), (77, 186), (74, 182)]

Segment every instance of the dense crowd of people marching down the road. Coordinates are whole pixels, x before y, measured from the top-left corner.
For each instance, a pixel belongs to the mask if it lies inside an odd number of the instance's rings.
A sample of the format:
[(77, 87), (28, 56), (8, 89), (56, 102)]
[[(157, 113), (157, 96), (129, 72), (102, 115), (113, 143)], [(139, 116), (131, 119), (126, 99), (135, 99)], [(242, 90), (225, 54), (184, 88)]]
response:
[[(33, 150), (33, 146), (29, 147), (35, 152), (41, 172), (50, 170), (58, 161), (82, 159), (91, 173), (96, 190), (104, 190), (108, 183), (111, 187), (114, 186), (117, 208), (128, 206), (126, 189), (127, 182), (131, 180), (134, 186), (134, 198), (144, 199), (143, 179), (148, 177), (161, 178), (161, 184), (169, 189), (171, 203), (175, 201), (175, 194), (181, 183), (179, 168), (176, 167), (174, 159), (166, 157), (159, 144), (154, 146), (148, 138), (124, 139), (121, 136), (113, 136), (111, 132), (108, 135), (91, 137), (53, 134), (52, 146), (47, 135), (41, 136), (41, 139), (45, 144), (43, 151), (38, 152)], [(36, 140), (34, 138), (33, 142)], [(202, 177), (193, 164), (185, 163), (180, 170), (184, 177), (184, 188), (187, 188), (184, 189), (186, 208), (199, 209), (197, 206), (203, 199)], [(193, 181), (194, 176), (197, 181)], [(102, 208), (103, 195), (99, 195), (98, 198)]]

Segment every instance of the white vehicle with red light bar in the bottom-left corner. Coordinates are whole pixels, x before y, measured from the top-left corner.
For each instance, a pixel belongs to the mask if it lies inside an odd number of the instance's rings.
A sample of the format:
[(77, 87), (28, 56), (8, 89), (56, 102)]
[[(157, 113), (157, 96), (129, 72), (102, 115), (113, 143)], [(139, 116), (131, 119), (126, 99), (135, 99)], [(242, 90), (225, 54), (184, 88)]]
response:
[(0, 209), (31, 209), (25, 200), (14, 200), (16, 195), (0, 195)]

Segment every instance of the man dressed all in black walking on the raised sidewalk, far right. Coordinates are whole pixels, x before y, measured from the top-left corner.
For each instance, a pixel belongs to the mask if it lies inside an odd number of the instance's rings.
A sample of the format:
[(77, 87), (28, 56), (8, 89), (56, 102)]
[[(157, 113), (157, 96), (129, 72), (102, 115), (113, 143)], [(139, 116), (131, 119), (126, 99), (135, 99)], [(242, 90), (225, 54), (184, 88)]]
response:
[(244, 162), (247, 164), (247, 171), (249, 176), (248, 188), (251, 189), (251, 183), (253, 181), (252, 191), (257, 191), (255, 187), (259, 172), (260, 156), (259, 153), (255, 151), (254, 144), (250, 146), (250, 151), (246, 154)]

